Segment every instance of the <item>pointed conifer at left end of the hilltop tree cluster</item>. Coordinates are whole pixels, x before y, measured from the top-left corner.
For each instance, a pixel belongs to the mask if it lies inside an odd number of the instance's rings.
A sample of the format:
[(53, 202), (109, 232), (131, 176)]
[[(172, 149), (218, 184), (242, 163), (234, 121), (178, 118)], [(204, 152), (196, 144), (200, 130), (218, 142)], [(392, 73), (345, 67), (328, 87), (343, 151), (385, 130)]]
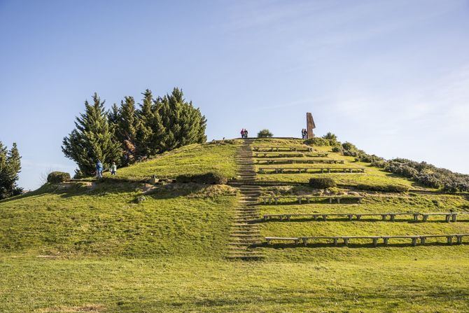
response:
[(97, 160), (101, 160), (106, 167), (120, 159), (120, 144), (114, 140), (104, 101), (99, 99), (96, 92), (93, 104), (85, 101), (85, 113), (80, 113), (76, 118), (75, 126), (76, 129), (64, 137), (62, 151), (67, 158), (76, 162), (80, 172), (92, 175)]

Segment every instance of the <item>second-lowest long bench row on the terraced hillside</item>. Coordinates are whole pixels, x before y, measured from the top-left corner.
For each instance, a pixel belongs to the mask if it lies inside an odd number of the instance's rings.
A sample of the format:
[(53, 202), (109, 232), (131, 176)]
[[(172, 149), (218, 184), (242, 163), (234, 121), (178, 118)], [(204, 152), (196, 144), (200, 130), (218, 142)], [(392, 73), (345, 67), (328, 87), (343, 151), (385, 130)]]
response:
[[(395, 221), (395, 216), (403, 216), (403, 215), (408, 215), (412, 217), (412, 221), (420, 221), (419, 216), (423, 216), (422, 222), (428, 221), (428, 216), (445, 216), (445, 221), (447, 223), (454, 222), (456, 223), (456, 216), (458, 215), (457, 213), (449, 212), (449, 213), (341, 213), (341, 214), (336, 214), (336, 213), (286, 213), (286, 214), (265, 214), (262, 216), (262, 219), (264, 221), (269, 221), (272, 220), (272, 218), (279, 218), (280, 221), (287, 220), (290, 221), (291, 217), (304, 217), (304, 216), (309, 216), (311, 218), (314, 218), (314, 221), (317, 221), (318, 218), (321, 218), (321, 221), (326, 221), (328, 217), (345, 217), (349, 221), (353, 220), (353, 217), (355, 217), (358, 221), (363, 216), (380, 216), (381, 221)], [(389, 220), (386, 220), (387, 217), (390, 217)]]

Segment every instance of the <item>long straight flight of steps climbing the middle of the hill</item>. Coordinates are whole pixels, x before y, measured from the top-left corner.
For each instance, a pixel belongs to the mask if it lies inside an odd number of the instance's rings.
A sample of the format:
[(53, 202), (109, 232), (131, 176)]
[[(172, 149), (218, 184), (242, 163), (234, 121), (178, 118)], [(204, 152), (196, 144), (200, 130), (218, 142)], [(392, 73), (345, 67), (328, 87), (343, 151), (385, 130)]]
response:
[(244, 139), (244, 144), (237, 152), (237, 186), (241, 191), (235, 219), (230, 231), (230, 249), (228, 258), (239, 260), (259, 260), (263, 258), (262, 253), (255, 249), (255, 244), (260, 244), (261, 237), (259, 226), (253, 221), (259, 218), (259, 211), (255, 204), (262, 188), (255, 186), (255, 167), (251, 144), (254, 139)]

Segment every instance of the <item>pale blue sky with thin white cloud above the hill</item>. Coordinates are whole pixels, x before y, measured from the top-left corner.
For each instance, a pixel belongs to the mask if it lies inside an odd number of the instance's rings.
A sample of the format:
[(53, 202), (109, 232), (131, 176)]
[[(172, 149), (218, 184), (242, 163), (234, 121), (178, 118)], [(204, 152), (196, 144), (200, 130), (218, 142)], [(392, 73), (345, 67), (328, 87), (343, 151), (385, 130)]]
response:
[(73, 172), (83, 102), (174, 86), (209, 140), (300, 136), (305, 112), (384, 158), (469, 173), (469, 2), (0, 0), (0, 140), (20, 185)]

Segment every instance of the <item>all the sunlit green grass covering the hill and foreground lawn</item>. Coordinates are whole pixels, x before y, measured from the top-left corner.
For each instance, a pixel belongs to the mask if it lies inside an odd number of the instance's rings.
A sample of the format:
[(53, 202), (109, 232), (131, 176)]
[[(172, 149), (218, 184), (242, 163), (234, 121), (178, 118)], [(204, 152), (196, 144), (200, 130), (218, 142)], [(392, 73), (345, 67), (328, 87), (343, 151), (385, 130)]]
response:
[[(169, 183), (152, 175), (218, 172), (235, 177), (241, 141), (186, 146), (120, 169), (118, 179), (47, 184), (0, 202), (0, 312), (468, 312), (469, 244), (425, 246), (408, 240), (373, 248), (330, 244), (261, 244), (265, 258), (225, 258), (237, 188)], [(257, 146), (302, 146), (263, 139)], [(468, 195), (439, 194), (413, 181), (327, 151), (328, 159), (364, 174), (259, 174), (260, 181), (307, 182), (328, 176), (335, 194), (363, 201), (262, 204), (260, 214), (424, 213), (469, 211)], [(271, 166), (271, 165), (269, 165)], [(288, 166), (291, 165), (282, 165)], [(303, 165), (302, 165), (303, 166)], [(304, 165), (320, 167), (321, 164)], [(409, 193), (354, 190), (409, 186)], [(308, 186), (265, 187), (265, 195), (323, 192)], [(469, 233), (469, 221), (255, 221), (262, 236), (424, 235)], [(467, 239), (466, 239), (467, 241)]]

